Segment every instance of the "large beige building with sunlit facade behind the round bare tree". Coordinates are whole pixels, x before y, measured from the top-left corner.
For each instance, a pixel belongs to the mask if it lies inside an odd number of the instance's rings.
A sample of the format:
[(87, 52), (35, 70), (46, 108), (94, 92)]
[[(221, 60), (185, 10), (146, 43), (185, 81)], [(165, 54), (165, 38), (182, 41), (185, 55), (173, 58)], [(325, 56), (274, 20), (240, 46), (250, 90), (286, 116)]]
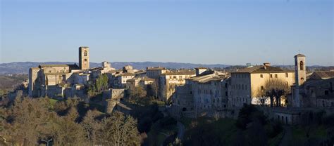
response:
[(244, 104), (270, 105), (270, 99), (263, 97), (266, 81), (280, 79), (287, 86), (295, 84), (295, 72), (283, 70), (280, 67), (271, 67), (270, 63), (247, 67), (237, 72), (231, 72), (228, 105), (242, 107)]

